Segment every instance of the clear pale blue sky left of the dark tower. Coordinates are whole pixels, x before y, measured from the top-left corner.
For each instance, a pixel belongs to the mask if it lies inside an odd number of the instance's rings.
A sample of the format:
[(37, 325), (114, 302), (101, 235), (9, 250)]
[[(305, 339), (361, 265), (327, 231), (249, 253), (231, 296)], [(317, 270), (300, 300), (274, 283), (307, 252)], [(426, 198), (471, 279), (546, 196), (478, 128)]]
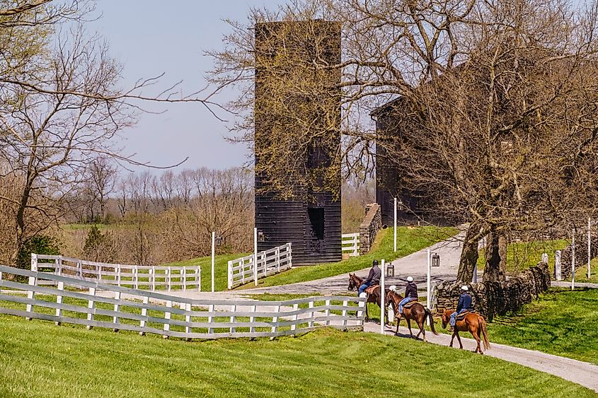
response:
[[(212, 59), (206, 49), (222, 47), (222, 36), (230, 32), (222, 21), (246, 21), (251, 7), (277, 8), (284, 0), (180, 0), (122, 1), (100, 0), (88, 30), (98, 32), (110, 45), (110, 53), (123, 65), (122, 86), (132, 86), (139, 78), (164, 73), (160, 87), (183, 81), (183, 93), (193, 93), (207, 85), (205, 74)], [(157, 88), (144, 94), (158, 93)], [(144, 104), (152, 112), (140, 115), (134, 127), (122, 131), (125, 155), (137, 161), (167, 166), (189, 158), (183, 168), (224, 169), (248, 160), (243, 144), (224, 140), (226, 124), (198, 103), (177, 105)], [(136, 169), (136, 168), (133, 168)], [(138, 168), (137, 168), (138, 170)]]

